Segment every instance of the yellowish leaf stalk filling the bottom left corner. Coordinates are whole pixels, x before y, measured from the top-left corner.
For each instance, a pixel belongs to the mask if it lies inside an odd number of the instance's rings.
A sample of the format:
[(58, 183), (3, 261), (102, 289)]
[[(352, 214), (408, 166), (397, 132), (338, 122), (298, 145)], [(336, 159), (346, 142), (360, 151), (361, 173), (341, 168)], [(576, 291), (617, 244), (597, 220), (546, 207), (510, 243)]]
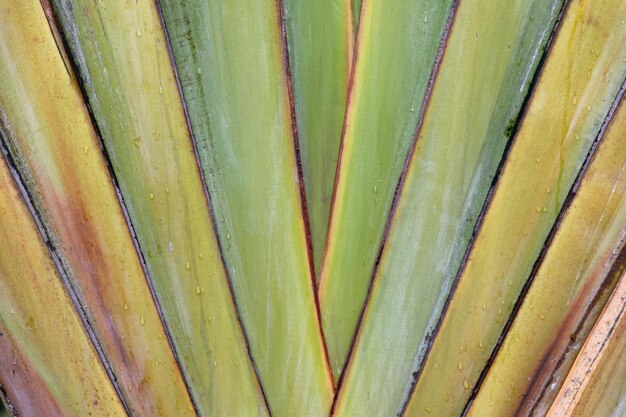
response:
[[(8, 20), (37, 14), (7, 5), (0, 3), (3, 40)], [(0, 399), (19, 416), (125, 417), (4, 159), (0, 241)]]

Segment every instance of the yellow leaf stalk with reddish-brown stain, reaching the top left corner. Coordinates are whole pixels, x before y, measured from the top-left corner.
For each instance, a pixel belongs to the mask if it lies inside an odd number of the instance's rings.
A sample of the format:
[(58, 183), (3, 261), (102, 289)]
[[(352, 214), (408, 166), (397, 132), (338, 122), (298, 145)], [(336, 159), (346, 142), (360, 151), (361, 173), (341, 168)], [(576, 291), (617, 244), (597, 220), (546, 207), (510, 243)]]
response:
[(39, 1), (20, 4), (0, 9), (2, 141), (128, 410), (193, 416), (76, 80)]

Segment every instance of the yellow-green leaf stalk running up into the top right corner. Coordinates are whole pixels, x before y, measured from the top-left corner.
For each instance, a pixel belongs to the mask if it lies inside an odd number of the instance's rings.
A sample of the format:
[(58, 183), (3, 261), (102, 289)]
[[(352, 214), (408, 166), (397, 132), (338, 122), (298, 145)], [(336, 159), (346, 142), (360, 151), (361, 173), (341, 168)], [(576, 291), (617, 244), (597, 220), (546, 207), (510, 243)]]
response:
[(626, 3), (569, 3), (406, 415), (456, 416), (626, 77)]

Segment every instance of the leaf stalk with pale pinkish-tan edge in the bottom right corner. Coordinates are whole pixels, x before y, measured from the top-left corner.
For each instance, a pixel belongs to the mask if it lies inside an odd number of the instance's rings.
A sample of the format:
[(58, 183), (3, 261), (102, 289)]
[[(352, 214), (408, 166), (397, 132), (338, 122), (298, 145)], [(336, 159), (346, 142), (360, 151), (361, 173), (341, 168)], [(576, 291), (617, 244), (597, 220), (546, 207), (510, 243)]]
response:
[(619, 417), (626, 414), (625, 313), (626, 275), (623, 275), (548, 417)]

